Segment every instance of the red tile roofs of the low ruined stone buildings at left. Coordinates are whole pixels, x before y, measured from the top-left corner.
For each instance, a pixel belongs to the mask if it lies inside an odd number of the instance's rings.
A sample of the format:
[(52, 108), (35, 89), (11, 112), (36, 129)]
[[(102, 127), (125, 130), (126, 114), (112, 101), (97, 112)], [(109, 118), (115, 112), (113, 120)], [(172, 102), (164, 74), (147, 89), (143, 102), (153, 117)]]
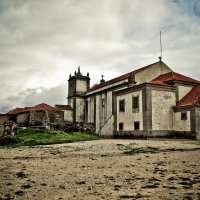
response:
[(30, 112), (30, 111), (40, 111), (40, 110), (50, 111), (50, 110), (58, 110), (58, 108), (52, 107), (52, 106), (45, 104), (45, 103), (41, 103), (41, 104), (38, 104), (38, 105), (33, 106), (33, 107), (15, 108), (15, 109), (9, 111), (6, 114), (16, 115), (16, 114), (19, 114), (19, 113)]

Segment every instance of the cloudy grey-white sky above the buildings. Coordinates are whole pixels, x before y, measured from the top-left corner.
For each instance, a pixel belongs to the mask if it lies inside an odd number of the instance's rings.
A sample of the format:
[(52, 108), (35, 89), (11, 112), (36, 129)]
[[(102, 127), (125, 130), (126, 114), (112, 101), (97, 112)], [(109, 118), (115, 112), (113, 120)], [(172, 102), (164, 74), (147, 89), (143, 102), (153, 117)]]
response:
[(199, 0), (0, 0), (0, 113), (66, 104), (80, 65), (91, 84), (158, 61), (200, 79)]

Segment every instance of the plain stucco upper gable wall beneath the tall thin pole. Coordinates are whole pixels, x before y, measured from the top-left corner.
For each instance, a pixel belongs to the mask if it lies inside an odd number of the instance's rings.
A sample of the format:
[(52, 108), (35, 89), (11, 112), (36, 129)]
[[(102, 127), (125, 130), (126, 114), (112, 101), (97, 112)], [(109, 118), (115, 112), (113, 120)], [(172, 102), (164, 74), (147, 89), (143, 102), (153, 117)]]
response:
[(147, 67), (145, 70), (137, 73), (135, 75), (135, 81), (138, 84), (149, 82), (158, 77), (161, 74), (171, 72), (171, 69), (167, 67), (165, 64), (160, 62), (152, 65), (151, 67)]

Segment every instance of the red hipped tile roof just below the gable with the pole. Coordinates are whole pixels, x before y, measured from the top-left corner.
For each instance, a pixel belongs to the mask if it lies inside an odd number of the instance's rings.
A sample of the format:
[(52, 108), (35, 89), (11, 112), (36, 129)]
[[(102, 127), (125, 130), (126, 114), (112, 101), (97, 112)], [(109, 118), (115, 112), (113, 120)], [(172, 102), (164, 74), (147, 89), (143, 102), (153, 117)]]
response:
[(200, 81), (178, 74), (176, 72), (169, 72), (166, 74), (162, 74), (158, 76), (157, 78), (153, 79), (150, 83), (157, 84), (157, 85), (170, 85), (169, 81), (183, 81), (183, 82), (195, 83), (195, 84), (200, 83)]

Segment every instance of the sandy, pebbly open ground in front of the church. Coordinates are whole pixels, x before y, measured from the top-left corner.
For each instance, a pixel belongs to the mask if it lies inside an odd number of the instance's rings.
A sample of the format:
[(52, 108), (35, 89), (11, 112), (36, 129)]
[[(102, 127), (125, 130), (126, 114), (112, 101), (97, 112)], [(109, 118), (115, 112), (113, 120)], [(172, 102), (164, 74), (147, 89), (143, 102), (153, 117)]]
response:
[[(140, 147), (162, 151), (124, 154)], [(190, 140), (111, 139), (0, 148), (0, 199), (200, 199), (197, 148)]]

